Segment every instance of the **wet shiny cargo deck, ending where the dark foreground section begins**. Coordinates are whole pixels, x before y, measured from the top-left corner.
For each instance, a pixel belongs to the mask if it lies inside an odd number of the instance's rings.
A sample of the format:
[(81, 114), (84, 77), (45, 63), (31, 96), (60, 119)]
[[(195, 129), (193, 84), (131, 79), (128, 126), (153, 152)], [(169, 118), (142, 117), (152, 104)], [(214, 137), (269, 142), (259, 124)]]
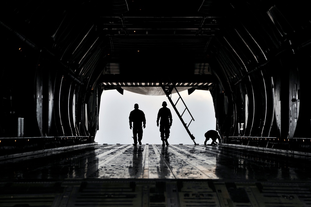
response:
[(6, 179), (310, 180), (311, 158), (220, 145), (95, 145), (0, 162)]

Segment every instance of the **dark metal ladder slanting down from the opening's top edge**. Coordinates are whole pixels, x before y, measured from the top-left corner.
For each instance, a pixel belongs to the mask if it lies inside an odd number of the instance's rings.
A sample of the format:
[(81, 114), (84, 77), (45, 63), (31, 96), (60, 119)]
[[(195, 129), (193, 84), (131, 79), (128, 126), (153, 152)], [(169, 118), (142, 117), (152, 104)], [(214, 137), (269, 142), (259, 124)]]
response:
[[(169, 99), (169, 102), (172, 104), (172, 106), (173, 106), (174, 110), (176, 111), (176, 114), (178, 115), (179, 119), (180, 119), (181, 122), (183, 123), (183, 126), (184, 126), (185, 129), (187, 130), (187, 132), (188, 132), (190, 138), (193, 140), (194, 144), (197, 144), (197, 143), (195, 143), (195, 141), (194, 141), (195, 137), (193, 136), (193, 134), (190, 133), (190, 131), (189, 131), (189, 129), (188, 129), (190, 123), (191, 123), (192, 121), (194, 121), (194, 119), (193, 119), (193, 117), (192, 117), (190, 111), (188, 110), (188, 108), (187, 108), (185, 102), (184, 102), (183, 99), (181, 98), (179, 92), (177, 91), (175, 85), (176, 85), (176, 83), (165, 83), (165, 85), (163, 85), (163, 83), (160, 82), (160, 86), (162, 87), (163, 91), (165, 92), (165, 95), (167, 96), (167, 98)], [(173, 91), (174, 89), (175, 89), (175, 91), (177, 92), (177, 94), (178, 94), (178, 96), (179, 96), (179, 98), (178, 98), (178, 100), (176, 101), (175, 104), (173, 103), (172, 99), (169, 97), (169, 96), (172, 94), (172, 91)], [(176, 108), (176, 104), (177, 104), (177, 102), (179, 101), (179, 99), (180, 99), (181, 101), (183, 101), (183, 105), (186, 107), (185, 110), (183, 111), (182, 115), (179, 114), (179, 111), (178, 111), (177, 108)], [(183, 121), (183, 118), (182, 118), (182, 116), (183, 116), (183, 114), (185, 113), (186, 110), (188, 111), (189, 115), (190, 115), (191, 118), (192, 118), (192, 119), (190, 120), (190, 122), (189, 122), (188, 125), (185, 124), (185, 122)]]

